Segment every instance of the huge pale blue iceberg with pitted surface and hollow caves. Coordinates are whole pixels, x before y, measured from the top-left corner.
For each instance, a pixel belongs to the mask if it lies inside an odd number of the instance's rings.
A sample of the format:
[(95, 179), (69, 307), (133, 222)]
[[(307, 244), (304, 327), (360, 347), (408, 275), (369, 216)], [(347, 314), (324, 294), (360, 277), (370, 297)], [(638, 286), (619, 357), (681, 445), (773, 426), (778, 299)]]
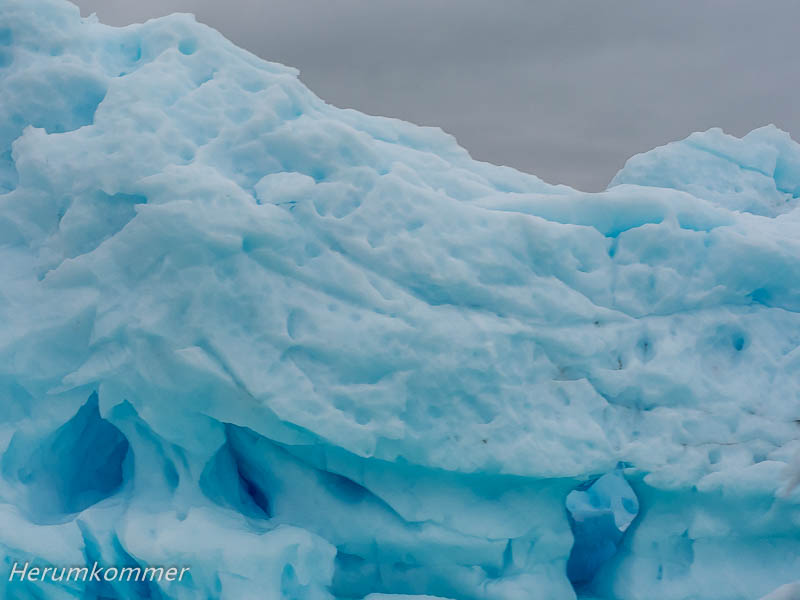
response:
[(0, 107), (6, 573), (191, 567), (3, 598), (797, 589), (788, 134), (581, 193), (56, 0), (0, 1)]

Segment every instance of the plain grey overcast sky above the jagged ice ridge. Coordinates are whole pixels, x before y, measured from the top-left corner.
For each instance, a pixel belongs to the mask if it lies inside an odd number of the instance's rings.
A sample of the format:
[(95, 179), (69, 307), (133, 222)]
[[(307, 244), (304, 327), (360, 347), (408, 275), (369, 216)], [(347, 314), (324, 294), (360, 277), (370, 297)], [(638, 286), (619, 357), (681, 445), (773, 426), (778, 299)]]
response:
[(722, 127), (800, 137), (797, 0), (78, 0), (111, 25), (192, 12), (326, 101), (437, 125), (473, 157), (604, 189)]

